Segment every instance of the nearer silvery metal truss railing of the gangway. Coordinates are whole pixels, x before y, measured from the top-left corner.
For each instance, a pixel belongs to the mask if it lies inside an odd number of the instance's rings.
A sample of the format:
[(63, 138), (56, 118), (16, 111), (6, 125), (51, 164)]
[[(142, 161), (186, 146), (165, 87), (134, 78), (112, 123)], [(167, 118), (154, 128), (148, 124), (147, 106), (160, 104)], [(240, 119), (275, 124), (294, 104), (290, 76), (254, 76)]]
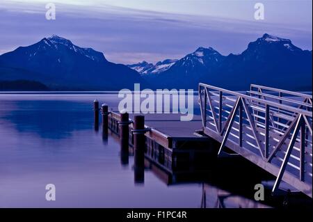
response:
[(312, 197), (312, 99), (299, 107), (269, 96), (199, 84), (204, 133), (220, 141), (219, 154), (226, 145), (277, 176), (274, 193), (284, 180)]

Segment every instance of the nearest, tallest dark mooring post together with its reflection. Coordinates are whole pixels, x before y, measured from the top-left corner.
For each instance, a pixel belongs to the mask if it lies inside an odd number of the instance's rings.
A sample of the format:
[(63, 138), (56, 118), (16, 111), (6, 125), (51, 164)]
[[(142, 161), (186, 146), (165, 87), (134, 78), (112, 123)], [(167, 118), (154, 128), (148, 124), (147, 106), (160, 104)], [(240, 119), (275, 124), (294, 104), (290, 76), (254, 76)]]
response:
[(134, 117), (134, 179), (136, 184), (145, 180), (145, 116)]

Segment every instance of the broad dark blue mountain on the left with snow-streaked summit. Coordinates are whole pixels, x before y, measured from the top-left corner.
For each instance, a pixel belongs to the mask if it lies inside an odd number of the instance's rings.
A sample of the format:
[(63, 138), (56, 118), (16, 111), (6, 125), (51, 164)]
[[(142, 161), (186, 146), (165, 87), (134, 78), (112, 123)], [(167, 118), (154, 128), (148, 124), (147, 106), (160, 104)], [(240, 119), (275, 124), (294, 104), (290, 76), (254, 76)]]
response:
[(97, 90), (134, 88), (135, 82), (143, 82), (138, 72), (126, 65), (111, 63), (102, 52), (78, 47), (58, 35), (1, 55), (0, 79)]

